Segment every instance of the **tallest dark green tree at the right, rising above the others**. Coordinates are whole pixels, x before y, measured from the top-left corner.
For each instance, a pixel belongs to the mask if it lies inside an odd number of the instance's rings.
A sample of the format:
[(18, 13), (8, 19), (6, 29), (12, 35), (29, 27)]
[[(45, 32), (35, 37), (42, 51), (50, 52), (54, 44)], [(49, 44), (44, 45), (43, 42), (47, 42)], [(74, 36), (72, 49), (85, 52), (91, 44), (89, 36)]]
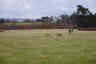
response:
[(95, 16), (89, 11), (88, 8), (85, 8), (82, 5), (77, 5), (76, 14), (71, 15), (72, 21), (73, 18), (75, 18), (75, 23), (78, 27), (94, 27), (96, 24)]

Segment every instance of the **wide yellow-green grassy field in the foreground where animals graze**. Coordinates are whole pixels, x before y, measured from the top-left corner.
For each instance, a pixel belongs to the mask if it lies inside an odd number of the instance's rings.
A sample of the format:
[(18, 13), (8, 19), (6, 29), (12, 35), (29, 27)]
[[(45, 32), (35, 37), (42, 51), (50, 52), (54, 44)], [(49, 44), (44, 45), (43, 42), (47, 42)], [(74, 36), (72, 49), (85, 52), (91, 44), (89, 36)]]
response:
[[(46, 34), (50, 33), (49, 37)], [(57, 38), (56, 33), (62, 37)], [(96, 64), (96, 32), (8, 30), (0, 32), (0, 64)]]

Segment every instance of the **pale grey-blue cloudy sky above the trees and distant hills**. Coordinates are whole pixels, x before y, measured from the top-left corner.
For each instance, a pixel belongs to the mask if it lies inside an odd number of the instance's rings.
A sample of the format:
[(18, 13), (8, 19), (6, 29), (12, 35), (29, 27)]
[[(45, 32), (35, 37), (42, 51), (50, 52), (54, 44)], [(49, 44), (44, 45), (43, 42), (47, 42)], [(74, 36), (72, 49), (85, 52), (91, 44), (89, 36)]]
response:
[(40, 18), (72, 14), (77, 5), (96, 12), (96, 0), (0, 0), (0, 18)]

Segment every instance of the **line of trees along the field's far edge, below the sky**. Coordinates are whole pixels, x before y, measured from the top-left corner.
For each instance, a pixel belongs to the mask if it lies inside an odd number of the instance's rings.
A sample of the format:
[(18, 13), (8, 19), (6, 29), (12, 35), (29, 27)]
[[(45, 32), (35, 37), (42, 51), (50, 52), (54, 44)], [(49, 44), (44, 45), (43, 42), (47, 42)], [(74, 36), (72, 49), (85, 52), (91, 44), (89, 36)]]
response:
[[(89, 28), (96, 27), (96, 13), (93, 14), (88, 8), (82, 5), (77, 5), (77, 11), (73, 12), (70, 16), (62, 14), (56, 16), (46, 16), (34, 20), (35, 22), (42, 22), (42, 28)], [(25, 19), (23, 22), (34, 22), (33, 20)], [(0, 19), (0, 24), (10, 22), (8, 19)], [(14, 24), (17, 23), (13, 21)]]

